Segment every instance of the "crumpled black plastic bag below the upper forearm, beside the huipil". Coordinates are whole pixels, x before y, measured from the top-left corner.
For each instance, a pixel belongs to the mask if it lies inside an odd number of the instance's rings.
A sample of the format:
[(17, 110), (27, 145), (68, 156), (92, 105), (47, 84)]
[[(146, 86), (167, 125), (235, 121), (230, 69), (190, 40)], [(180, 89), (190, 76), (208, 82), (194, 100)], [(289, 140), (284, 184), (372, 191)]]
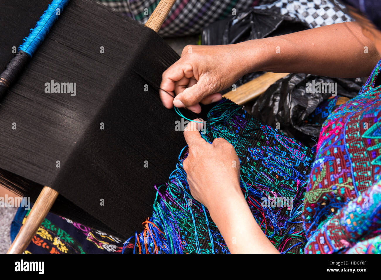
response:
[[(309, 92), (308, 83), (336, 83), (331, 92)], [(354, 98), (362, 81), (356, 79), (328, 78), (309, 74), (289, 74), (271, 85), (253, 104), (247, 104), (250, 114), (267, 125), (279, 129), (287, 136), (312, 147), (317, 144), (324, 120), (328, 117), (339, 96)], [(307, 88), (307, 90), (306, 90)], [(325, 90), (324, 90), (325, 91)]]

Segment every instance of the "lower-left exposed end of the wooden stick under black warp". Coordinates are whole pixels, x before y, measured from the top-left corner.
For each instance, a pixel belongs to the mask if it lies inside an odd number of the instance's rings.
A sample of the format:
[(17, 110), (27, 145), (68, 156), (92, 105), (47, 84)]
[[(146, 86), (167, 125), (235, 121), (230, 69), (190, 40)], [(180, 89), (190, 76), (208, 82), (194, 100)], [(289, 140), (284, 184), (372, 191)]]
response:
[(7, 254), (22, 254), (26, 250), (57, 197), (56, 190), (43, 187)]

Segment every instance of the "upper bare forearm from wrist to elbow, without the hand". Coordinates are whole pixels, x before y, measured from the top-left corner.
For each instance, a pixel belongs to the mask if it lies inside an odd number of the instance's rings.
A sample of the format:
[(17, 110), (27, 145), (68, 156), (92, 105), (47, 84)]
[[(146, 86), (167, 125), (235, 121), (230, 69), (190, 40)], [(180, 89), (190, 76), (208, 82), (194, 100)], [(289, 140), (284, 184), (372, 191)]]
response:
[[(367, 53), (364, 48), (367, 47)], [(245, 73), (258, 70), (307, 73), (329, 77), (367, 77), (380, 59), (374, 43), (356, 22), (250, 40), (236, 44), (239, 67)]]

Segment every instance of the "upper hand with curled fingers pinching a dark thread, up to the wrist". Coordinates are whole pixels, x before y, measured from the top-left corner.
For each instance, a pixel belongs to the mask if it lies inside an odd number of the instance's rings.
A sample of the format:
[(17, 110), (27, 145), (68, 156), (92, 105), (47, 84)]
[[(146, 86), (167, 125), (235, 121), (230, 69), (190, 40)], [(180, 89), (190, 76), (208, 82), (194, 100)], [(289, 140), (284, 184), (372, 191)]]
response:
[[(232, 86), (249, 70), (245, 67), (242, 47), (239, 44), (199, 46), (188, 45), (181, 58), (162, 75), (160, 98), (163, 105), (187, 107), (201, 112), (202, 104), (219, 101), (218, 91)], [(172, 96), (175, 96), (173, 98)]]

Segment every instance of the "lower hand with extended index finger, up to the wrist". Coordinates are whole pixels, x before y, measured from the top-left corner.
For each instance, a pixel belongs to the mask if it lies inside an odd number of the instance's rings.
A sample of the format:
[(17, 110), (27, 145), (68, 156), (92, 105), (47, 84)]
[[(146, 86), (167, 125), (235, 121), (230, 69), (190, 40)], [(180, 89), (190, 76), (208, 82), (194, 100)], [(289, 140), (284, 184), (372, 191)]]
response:
[(191, 122), (184, 129), (189, 153), (183, 166), (192, 196), (213, 210), (232, 197), (243, 197), (240, 163), (232, 144), (223, 138), (209, 144), (201, 137), (198, 125), (202, 123)]

